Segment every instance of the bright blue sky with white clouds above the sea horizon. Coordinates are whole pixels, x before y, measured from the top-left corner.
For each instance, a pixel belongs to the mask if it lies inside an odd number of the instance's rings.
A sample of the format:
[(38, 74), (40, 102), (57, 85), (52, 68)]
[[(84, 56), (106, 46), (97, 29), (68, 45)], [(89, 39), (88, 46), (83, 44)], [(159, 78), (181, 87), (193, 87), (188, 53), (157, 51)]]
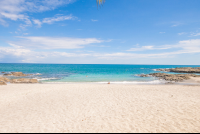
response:
[(199, 0), (0, 0), (0, 63), (200, 64)]

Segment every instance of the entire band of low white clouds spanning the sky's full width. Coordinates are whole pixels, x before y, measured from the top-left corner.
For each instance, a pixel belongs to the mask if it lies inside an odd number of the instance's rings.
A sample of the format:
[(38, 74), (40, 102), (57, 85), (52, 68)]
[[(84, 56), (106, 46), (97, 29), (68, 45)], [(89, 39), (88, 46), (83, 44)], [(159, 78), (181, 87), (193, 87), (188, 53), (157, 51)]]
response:
[[(144, 46), (145, 50), (153, 50), (153, 49), (161, 49), (161, 48), (173, 48), (168, 52), (151, 52), (151, 53), (132, 53), (132, 52), (115, 52), (115, 53), (95, 53), (87, 52), (83, 53), (83, 51), (76, 53), (68, 53), (68, 52), (59, 52), (55, 50), (51, 51), (41, 51), (37, 52), (31, 47), (35, 48), (44, 48), (44, 49), (75, 49), (84, 47), (90, 43), (100, 43), (103, 42), (101, 40), (89, 38), (89, 39), (74, 39), (74, 38), (50, 38), (50, 37), (21, 37), (21, 39), (26, 39), (28, 42), (21, 42), (21, 46), (19, 44), (10, 43), (11, 47), (0, 47), (0, 61), (2, 59), (6, 59), (7, 57), (11, 57), (10, 59), (17, 58), (19, 62), (46, 62), (47, 60), (52, 63), (57, 63), (57, 60), (60, 59), (62, 62), (66, 58), (96, 58), (96, 59), (105, 59), (105, 60), (113, 60), (113, 59), (135, 59), (135, 58), (169, 58), (174, 57), (180, 54), (194, 54), (200, 53), (200, 39), (192, 39), (192, 40), (183, 40), (179, 41), (174, 45), (162, 45), (158, 48), (154, 46)], [(24, 44), (26, 43), (26, 44)], [(26, 46), (28, 45), (28, 46)], [(33, 45), (33, 46), (32, 46)], [(6, 58), (5, 58), (6, 57)], [(80, 62), (80, 61), (76, 61)], [(63, 62), (64, 63), (64, 62)]]

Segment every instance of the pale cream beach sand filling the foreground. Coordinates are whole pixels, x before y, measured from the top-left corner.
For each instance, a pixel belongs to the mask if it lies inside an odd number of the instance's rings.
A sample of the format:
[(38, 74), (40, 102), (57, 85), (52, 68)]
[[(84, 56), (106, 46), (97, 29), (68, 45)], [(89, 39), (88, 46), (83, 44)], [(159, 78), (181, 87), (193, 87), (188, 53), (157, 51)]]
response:
[(200, 86), (0, 86), (0, 132), (200, 132)]

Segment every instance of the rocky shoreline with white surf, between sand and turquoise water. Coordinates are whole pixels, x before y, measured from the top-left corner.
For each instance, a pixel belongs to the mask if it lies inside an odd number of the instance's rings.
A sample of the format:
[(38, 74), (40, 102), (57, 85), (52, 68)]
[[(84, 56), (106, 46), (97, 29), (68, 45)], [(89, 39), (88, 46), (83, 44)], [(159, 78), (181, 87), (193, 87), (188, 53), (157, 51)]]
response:
[[(193, 74), (194, 72), (200, 72), (200, 67), (192, 68), (192, 67), (184, 67), (184, 68), (170, 68), (170, 69), (153, 69), (154, 71), (161, 71), (161, 72), (188, 72), (186, 74), (166, 74), (166, 73), (149, 73), (149, 74), (136, 74), (134, 76), (141, 77), (134, 78), (132, 81), (128, 79), (130, 76), (127, 77), (127, 81), (109, 81), (109, 79), (104, 79), (104, 81), (97, 81), (95, 78), (90, 78), (85, 80), (77, 78), (75, 80), (65, 80), (64, 78), (59, 79), (58, 81), (53, 81), (55, 78), (42, 78), (42, 77), (33, 77), (35, 75), (42, 75), (41, 73), (32, 73), (32, 74), (24, 74), (23, 72), (1, 72), (3, 76), (0, 77), (0, 85), (6, 85), (7, 82), (10, 83), (48, 83), (48, 84), (68, 84), (68, 83), (89, 83), (89, 84), (133, 84), (133, 85), (165, 85), (165, 84), (175, 84), (175, 85), (199, 85), (200, 84), (200, 75)], [(134, 77), (133, 76), (133, 77)], [(86, 75), (86, 77), (88, 77)], [(149, 77), (149, 79), (142, 79), (142, 77)], [(150, 78), (151, 77), (151, 78)], [(154, 77), (154, 78), (153, 78)], [(197, 78), (196, 78), (197, 77)], [(45, 79), (49, 79), (52, 81), (47, 81)], [(62, 80), (63, 79), (63, 80)], [(103, 79), (102, 79), (103, 80)], [(125, 80), (125, 78), (121, 79)], [(129, 81), (130, 80), (130, 81)], [(71, 81), (71, 82), (67, 82)], [(74, 82), (77, 81), (77, 82)], [(92, 82), (93, 81), (93, 82)]]

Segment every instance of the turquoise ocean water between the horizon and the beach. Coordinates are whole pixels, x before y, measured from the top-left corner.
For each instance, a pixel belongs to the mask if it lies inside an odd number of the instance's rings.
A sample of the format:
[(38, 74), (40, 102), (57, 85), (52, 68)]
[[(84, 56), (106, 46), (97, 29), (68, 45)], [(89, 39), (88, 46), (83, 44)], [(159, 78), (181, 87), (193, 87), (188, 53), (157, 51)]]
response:
[(200, 67), (200, 65), (106, 65), (106, 64), (11, 64), (0, 63), (1, 72), (34, 74), (42, 83), (98, 82), (98, 83), (160, 83), (154, 77), (138, 74), (156, 73), (158, 68)]

